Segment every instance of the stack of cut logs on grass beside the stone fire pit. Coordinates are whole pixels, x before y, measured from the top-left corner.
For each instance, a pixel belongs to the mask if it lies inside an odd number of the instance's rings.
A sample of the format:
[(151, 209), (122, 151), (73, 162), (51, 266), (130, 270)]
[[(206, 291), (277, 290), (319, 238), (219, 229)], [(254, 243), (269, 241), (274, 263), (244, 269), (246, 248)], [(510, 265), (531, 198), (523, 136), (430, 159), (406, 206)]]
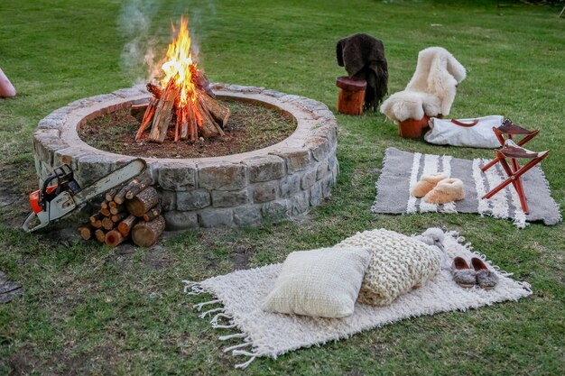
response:
[(79, 226), (84, 240), (92, 237), (111, 247), (130, 238), (135, 245), (148, 247), (165, 229), (157, 190), (152, 179), (132, 179), (122, 188), (108, 191), (100, 211), (89, 223)]

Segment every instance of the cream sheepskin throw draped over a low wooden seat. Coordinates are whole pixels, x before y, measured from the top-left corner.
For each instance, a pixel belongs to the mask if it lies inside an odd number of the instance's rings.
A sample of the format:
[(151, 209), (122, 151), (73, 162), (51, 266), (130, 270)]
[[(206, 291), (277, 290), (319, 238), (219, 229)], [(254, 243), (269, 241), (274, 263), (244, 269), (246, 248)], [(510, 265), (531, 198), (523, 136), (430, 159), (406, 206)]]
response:
[(421, 50), (412, 79), (403, 91), (383, 102), (381, 112), (400, 122), (418, 120), (423, 115), (449, 115), (457, 85), (466, 74), (465, 67), (448, 50), (441, 47)]

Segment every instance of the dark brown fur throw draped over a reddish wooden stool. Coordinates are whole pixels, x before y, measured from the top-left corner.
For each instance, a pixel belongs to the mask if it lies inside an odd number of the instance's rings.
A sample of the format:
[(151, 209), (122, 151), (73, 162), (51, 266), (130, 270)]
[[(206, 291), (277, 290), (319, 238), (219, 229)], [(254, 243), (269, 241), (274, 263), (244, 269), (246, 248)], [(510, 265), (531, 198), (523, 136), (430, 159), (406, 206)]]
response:
[(365, 79), (365, 108), (376, 110), (387, 92), (388, 67), (384, 44), (370, 35), (359, 33), (338, 41), (338, 65), (349, 78)]

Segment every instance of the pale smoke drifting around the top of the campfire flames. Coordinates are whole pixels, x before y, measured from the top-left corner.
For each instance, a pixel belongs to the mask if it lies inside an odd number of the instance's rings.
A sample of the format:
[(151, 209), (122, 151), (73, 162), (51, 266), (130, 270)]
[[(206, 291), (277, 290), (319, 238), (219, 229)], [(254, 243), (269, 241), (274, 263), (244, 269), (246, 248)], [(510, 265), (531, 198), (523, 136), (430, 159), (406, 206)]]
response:
[[(162, 22), (166, 18), (158, 18), (162, 24), (154, 25), (153, 19), (162, 8), (162, 0), (126, 0), (117, 19), (120, 32), (125, 38), (120, 66), (125, 74), (132, 78), (134, 84), (146, 83), (159, 78), (161, 65), (170, 38), (163, 40), (156, 35), (171, 35), (171, 22), (178, 29), (181, 14), (189, 19), (192, 55), (199, 61), (199, 41), (202, 32), (213, 27), (216, 6), (213, 1), (189, 0), (178, 5), (167, 4), (164, 14), (170, 14), (170, 22)], [(164, 6), (163, 6), (164, 8)], [(160, 32), (157, 32), (159, 30)]]

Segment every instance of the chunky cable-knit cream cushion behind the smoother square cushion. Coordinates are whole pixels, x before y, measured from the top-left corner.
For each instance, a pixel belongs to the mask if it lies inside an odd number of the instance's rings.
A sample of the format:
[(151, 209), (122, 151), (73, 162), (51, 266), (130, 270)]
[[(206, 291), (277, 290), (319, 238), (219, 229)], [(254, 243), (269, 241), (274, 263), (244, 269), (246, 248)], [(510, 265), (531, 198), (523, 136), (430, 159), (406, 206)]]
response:
[(336, 245), (347, 246), (369, 247), (373, 255), (359, 291), (360, 303), (386, 306), (440, 271), (441, 253), (437, 247), (394, 231), (365, 231)]

